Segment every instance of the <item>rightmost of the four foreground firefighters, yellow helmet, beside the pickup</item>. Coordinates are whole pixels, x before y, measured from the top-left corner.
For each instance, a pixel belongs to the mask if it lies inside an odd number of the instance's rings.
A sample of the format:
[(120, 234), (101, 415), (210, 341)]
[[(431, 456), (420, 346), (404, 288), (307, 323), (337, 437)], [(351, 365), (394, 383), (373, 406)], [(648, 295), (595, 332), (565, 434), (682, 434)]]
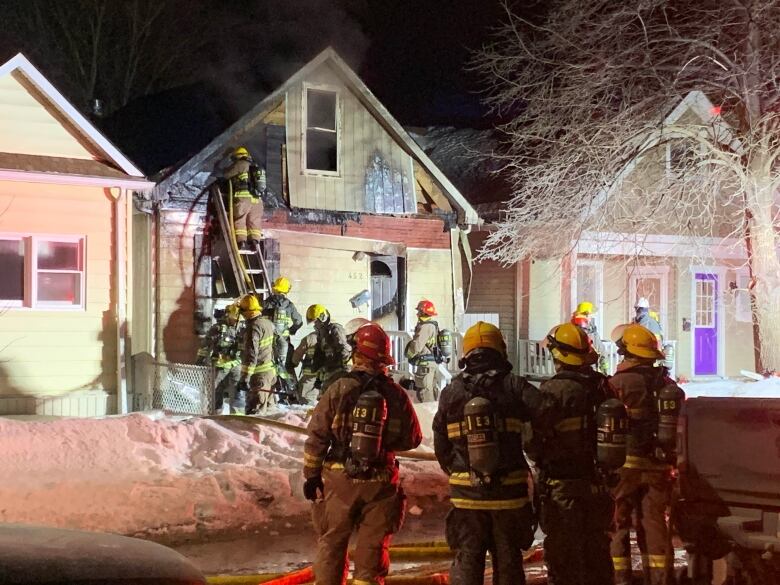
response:
[[(629, 416), (626, 463), (620, 469), (620, 481), (614, 491), (615, 518), (610, 548), (615, 583), (631, 582), (629, 532), (633, 515), (645, 582), (660, 585), (665, 583), (667, 563), (672, 555), (666, 510), (673, 486), (674, 453), (668, 445), (666, 453), (660, 452), (662, 428), (658, 397), (671, 390), (681, 403), (684, 394), (668, 377), (666, 368), (655, 366), (656, 360), (664, 359), (664, 354), (658, 349), (658, 338), (652, 331), (635, 323), (621, 325), (612, 332), (612, 340), (623, 361), (618, 364), (610, 385), (625, 404)], [(674, 442), (676, 420), (671, 425), (667, 421), (668, 426), (672, 428), (666, 429), (667, 444), (670, 440)]]

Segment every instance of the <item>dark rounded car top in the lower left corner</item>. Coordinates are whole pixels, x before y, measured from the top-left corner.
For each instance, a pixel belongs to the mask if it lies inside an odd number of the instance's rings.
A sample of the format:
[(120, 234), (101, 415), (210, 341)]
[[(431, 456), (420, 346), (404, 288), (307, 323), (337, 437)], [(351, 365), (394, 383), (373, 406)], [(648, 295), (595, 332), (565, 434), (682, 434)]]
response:
[(101, 532), (0, 524), (5, 585), (205, 585), (185, 557), (161, 544)]

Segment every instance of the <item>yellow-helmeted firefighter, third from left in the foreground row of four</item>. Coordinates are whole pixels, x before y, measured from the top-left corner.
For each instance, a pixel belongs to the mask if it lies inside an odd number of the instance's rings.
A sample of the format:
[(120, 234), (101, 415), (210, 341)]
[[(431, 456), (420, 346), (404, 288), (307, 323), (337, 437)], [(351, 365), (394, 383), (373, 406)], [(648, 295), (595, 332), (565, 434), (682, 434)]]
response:
[(538, 471), (547, 579), (605, 585), (613, 580), (613, 502), (596, 464), (596, 411), (611, 393), (606, 376), (592, 368), (598, 354), (582, 328), (558, 325), (545, 344), (556, 373), (539, 388), (527, 452)]

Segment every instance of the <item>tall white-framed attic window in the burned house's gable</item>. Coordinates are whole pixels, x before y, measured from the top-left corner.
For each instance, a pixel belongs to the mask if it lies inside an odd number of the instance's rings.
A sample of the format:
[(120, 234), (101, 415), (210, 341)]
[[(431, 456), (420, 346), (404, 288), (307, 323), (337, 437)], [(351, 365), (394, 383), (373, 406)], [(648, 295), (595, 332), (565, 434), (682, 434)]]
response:
[(333, 175), (339, 172), (338, 106), (337, 92), (306, 88), (304, 166), (307, 171)]

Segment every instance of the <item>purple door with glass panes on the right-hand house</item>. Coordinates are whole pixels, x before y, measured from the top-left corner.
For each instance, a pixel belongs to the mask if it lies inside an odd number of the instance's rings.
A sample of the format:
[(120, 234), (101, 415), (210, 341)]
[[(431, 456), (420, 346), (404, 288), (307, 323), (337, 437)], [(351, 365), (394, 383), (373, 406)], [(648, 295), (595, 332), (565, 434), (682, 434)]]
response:
[(693, 374), (718, 373), (718, 276), (696, 273), (693, 329)]

